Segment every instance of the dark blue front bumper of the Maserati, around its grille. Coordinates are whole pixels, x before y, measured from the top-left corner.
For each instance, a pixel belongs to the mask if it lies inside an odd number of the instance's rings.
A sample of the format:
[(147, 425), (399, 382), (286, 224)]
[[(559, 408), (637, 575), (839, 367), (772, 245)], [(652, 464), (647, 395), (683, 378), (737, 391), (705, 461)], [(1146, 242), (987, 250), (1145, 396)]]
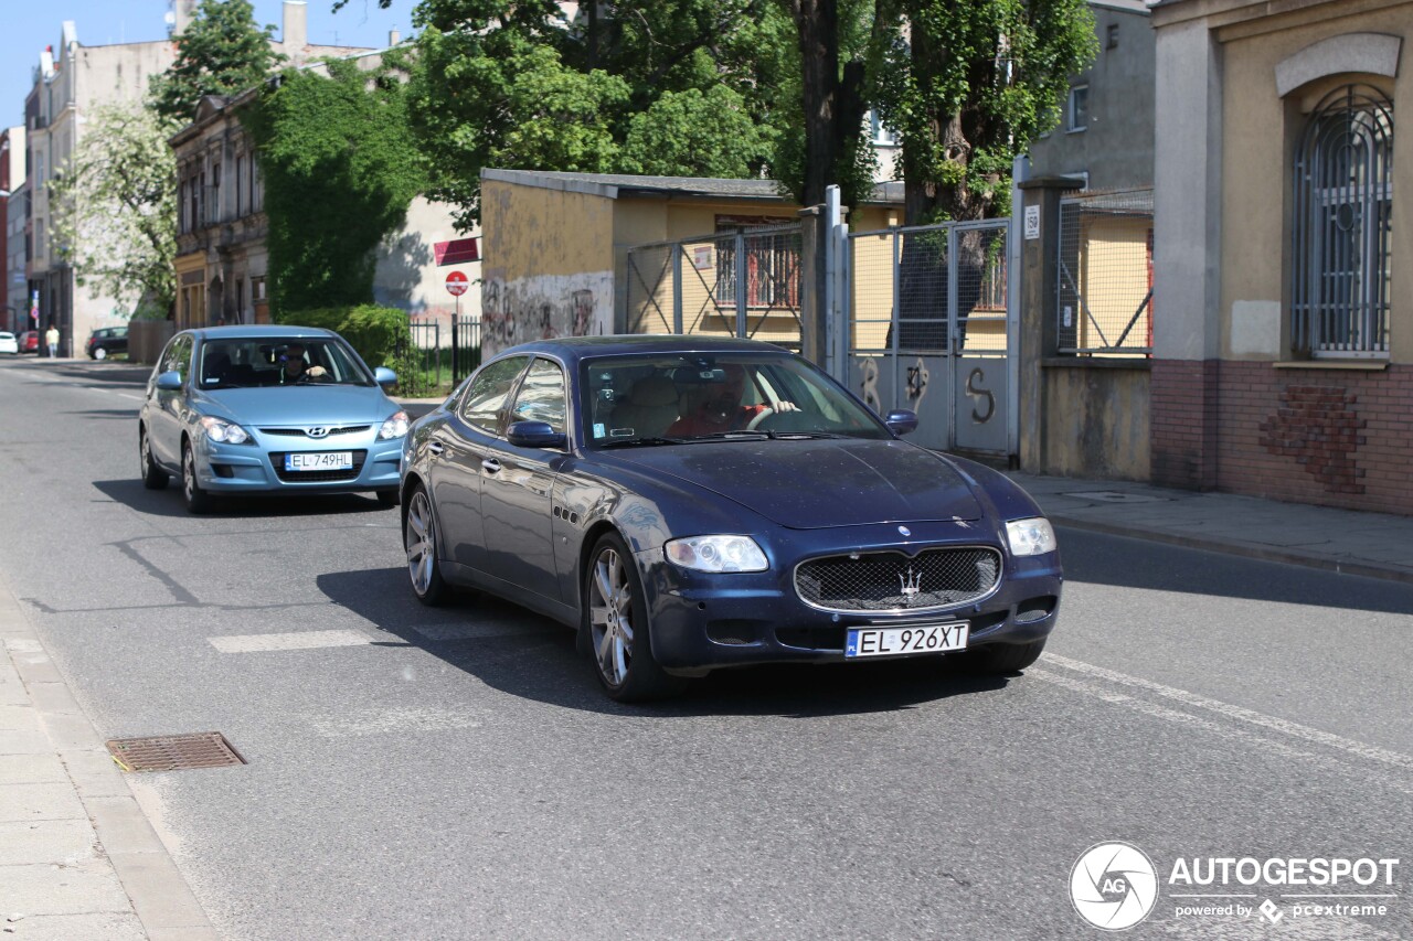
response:
[[(1030, 643), (1054, 629), (1064, 582), (1058, 552), (1016, 558), (998, 538), (978, 541), (975, 530), (959, 535), (950, 523), (909, 526), (916, 538), (903, 545), (894, 527), (859, 527), (875, 531), (849, 531), (846, 541), (834, 547), (821, 543), (817, 533), (808, 534), (807, 551), (767, 548), (773, 558), (766, 572), (691, 572), (667, 562), (661, 548), (636, 554), (651, 622), (653, 656), (668, 671), (697, 674), (763, 663), (844, 661), (851, 627), (965, 620), (971, 625), (968, 649)], [(914, 552), (952, 543), (1002, 548), (1003, 572), (992, 595), (927, 613), (834, 613), (805, 605), (794, 589), (794, 567), (804, 558), (897, 548)]]

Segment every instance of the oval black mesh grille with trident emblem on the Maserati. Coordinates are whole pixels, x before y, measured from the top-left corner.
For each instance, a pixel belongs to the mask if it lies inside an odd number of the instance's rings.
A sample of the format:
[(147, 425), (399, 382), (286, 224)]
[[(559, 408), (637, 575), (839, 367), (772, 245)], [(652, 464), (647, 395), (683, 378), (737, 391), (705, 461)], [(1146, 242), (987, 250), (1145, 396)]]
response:
[(841, 612), (927, 610), (985, 598), (1000, 581), (1000, 552), (985, 547), (831, 555), (796, 569), (796, 591)]

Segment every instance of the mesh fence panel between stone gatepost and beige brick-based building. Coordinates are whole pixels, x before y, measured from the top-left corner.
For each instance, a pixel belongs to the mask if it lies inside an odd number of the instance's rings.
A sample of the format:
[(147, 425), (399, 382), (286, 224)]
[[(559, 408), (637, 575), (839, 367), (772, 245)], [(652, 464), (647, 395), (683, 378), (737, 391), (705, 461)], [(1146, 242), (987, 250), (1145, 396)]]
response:
[(1060, 352), (1153, 355), (1153, 191), (1060, 203)]

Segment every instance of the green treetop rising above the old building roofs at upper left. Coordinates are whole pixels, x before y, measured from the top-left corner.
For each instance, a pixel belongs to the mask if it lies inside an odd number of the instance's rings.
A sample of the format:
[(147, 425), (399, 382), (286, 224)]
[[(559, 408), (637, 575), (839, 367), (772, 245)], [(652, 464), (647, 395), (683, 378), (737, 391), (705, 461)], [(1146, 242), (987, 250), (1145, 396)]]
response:
[(201, 0), (177, 37), (177, 61), (148, 81), (153, 107), (185, 124), (205, 95), (236, 95), (257, 85), (284, 57), (270, 48), (274, 27), (259, 27), (250, 0)]

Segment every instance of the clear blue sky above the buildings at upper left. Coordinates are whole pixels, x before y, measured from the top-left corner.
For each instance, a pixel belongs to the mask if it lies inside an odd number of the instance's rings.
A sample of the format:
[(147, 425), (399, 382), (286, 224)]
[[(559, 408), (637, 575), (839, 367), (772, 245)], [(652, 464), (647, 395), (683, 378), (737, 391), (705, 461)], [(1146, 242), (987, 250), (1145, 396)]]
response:
[[(280, 37), (283, 0), (254, 0), (256, 23), (273, 24)], [(383, 48), (387, 32), (413, 32), (417, 0), (349, 0), (331, 13), (333, 0), (308, 0), (309, 42)], [(72, 20), (81, 45), (150, 42), (167, 37), (168, 0), (0, 0), (0, 127), (24, 123), (24, 97), (34, 86), (34, 66), (44, 47), (58, 48), (65, 20)]]

